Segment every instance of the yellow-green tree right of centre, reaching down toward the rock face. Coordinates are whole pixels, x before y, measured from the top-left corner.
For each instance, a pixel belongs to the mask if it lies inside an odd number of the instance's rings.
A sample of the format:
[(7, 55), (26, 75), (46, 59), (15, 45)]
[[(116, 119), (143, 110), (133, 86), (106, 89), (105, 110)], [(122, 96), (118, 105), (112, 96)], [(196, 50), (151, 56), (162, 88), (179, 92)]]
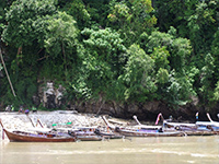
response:
[(146, 49), (155, 61), (157, 98), (172, 106), (189, 102), (195, 94), (194, 77), (188, 77), (192, 71), (187, 60), (192, 50), (189, 40), (177, 37), (175, 28), (171, 27), (168, 33), (152, 32)]

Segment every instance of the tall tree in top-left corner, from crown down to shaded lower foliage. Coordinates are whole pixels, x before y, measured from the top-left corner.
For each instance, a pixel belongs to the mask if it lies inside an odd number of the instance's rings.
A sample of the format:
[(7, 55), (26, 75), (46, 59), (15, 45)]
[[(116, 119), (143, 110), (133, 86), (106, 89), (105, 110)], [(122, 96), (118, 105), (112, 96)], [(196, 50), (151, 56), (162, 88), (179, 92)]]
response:
[(54, 0), (16, 0), (5, 13), (7, 24), (1, 36), (9, 45), (10, 77), (16, 81), (13, 84), (21, 103), (31, 104), (32, 95), (37, 92), (37, 61), (44, 56), (47, 16), (55, 12)]

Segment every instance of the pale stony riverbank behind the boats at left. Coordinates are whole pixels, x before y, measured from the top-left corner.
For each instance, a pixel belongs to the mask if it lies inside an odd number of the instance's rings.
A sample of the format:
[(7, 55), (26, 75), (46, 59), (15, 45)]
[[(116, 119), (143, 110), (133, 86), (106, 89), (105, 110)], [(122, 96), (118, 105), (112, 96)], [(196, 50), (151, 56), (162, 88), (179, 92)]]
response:
[[(7, 129), (28, 130), (33, 127), (45, 128), (72, 128), (72, 127), (93, 127), (105, 126), (101, 116), (90, 114), (78, 114), (74, 112), (37, 112), (28, 115), (12, 113), (0, 113), (0, 119)], [(2, 137), (2, 128), (0, 127), (0, 137)]]

